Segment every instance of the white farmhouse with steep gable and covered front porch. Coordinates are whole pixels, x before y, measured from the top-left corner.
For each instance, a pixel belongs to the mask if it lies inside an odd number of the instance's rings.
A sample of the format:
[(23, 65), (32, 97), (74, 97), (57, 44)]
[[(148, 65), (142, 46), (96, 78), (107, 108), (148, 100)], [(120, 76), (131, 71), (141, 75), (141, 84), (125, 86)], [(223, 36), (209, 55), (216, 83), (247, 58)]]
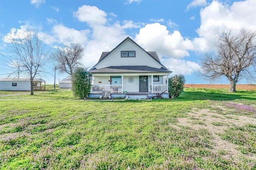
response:
[(156, 93), (169, 98), (168, 78), (172, 71), (160, 63), (155, 51), (145, 51), (127, 37), (110, 52), (102, 52), (91, 69), (89, 98), (108, 91), (112, 98), (150, 98)]

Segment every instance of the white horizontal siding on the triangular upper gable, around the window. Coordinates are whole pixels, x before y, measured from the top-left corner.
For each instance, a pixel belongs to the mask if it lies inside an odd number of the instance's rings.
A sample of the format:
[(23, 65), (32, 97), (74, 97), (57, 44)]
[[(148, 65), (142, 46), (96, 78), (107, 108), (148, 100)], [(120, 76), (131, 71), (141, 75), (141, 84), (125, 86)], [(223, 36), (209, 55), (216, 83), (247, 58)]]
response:
[[(135, 57), (121, 57), (121, 51), (135, 51)], [(120, 47), (113, 51), (108, 57), (103, 59), (96, 68), (105, 68), (108, 66), (140, 66), (146, 65), (154, 68), (161, 68), (162, 66), (147, 53), (145, 53), (140, 47), (132, 43), (130, 40), (126, 40)]]

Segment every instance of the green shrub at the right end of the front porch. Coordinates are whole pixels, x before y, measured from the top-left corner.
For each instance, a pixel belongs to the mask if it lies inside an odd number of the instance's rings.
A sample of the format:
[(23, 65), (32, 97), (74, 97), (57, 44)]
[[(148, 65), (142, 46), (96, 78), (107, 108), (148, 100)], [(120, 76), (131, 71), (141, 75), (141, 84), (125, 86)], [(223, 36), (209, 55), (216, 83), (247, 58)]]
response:
[(180, 96), (185, 84), (185, 77), (183, 75), (175, 75), (169, 78), (169, 98), (174, 99)]

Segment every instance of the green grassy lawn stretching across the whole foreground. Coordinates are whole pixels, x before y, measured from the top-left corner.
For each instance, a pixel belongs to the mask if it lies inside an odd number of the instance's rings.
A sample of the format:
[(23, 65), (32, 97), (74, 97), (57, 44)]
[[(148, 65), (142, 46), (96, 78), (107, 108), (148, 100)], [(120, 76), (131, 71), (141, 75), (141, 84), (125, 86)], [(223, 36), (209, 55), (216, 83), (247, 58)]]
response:
[(1, 97), (0, 169), (256, 169), (255, 94), (188, 88), (175, 100), (84, 101), (70, 91)]

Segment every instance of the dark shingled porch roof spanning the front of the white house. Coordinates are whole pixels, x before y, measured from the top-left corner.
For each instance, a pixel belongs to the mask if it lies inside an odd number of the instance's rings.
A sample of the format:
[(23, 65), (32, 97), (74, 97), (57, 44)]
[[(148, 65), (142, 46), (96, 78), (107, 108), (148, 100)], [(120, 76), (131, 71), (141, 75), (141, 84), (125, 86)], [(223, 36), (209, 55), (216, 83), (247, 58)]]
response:
[(91, 73), (121, 73), (121, 72), (172, 72), (165, 68), (154, 68), (150, 66), (109, 66), (106, 68), (100, 68), (90, 70)]

